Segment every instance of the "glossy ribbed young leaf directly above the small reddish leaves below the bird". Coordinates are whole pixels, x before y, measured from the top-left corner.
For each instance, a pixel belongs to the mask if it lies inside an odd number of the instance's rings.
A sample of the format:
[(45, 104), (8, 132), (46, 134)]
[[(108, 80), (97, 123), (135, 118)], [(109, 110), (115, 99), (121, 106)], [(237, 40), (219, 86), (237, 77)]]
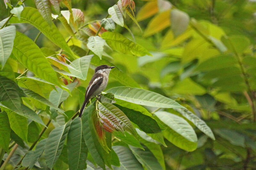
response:
[(132, 134), (136, 134), (135, 129), (132, 126), (132, 123), (118, 107), (112, 105), (111, 103), (102, 102), (98, 104), (98, 108), (100, 111), (105, 111), (110, 115), (114, 116), (121, 124), (124, 130), (127, 130)]

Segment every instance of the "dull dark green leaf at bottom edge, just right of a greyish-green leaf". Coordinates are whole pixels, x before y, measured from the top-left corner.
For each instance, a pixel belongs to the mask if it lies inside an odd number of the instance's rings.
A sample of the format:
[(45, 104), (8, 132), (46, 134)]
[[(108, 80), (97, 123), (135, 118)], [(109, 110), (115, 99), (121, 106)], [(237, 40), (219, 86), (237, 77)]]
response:
[(134, 156), (138, 159), (138, 161), (144, 165), (148, 170), (163, 170), (162, 166), (160, 163), (157, 161), (156, 157), (150, 150), (144, 146), (144, 151), (141, 150), (140, 148), (136, 148), (133, 146), (129, 146), (130, 149), (132, 150), (132, 153)]

